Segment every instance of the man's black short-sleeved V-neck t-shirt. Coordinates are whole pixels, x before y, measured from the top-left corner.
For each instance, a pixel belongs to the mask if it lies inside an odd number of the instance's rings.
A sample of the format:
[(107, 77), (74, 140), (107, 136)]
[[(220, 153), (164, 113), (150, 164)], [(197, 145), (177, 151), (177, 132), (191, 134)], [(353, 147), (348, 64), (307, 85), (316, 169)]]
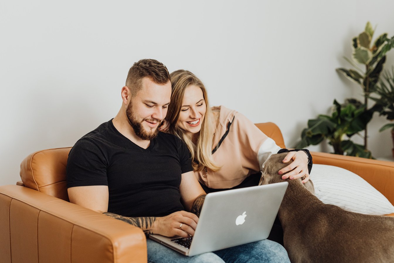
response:
[(67, 188), (108, 185), (108, 212), (166, 216), (184, 210), (179, 185), (181, 174), (190, 171), (190, 152), (176, 136), (159, 132), (143, 149), (117, 131), (110, 120), (72, 147)]

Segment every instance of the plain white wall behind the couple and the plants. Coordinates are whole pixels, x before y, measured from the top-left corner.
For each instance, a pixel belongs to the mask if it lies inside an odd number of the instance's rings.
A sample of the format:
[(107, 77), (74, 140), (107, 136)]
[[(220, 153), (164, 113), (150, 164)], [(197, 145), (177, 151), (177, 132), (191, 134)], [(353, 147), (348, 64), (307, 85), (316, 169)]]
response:
[[(29, 153), (72, 146), (113, 118), (128, 69), (141, 58), (194, 72), (212, 105), (277, 123), (293, 146), (334, 98), (361, 98), (335, 68), (349, 67), (342, 56), (366, 21), (377, 35), (394, 34), (393, 3), (2, 1), (0, 185), (20, 179)], [(394, 51), (386, 68), (393, 63)], [(384, 123), (370, 125), (376, 157), (392, 147), (389, 134), (377, 132)]]

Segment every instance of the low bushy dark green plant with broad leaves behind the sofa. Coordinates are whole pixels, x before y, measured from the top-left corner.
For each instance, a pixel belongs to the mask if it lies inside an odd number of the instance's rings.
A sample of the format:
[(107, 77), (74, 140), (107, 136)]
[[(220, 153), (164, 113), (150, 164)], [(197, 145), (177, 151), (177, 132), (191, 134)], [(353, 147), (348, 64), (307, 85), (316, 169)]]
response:
[(328, 140), (336, 154), (372, 158), (364, 145), (355, 144), (350, 138), (365, 129), (373, 112), (355, 99), (348, 99), (342, 105), (334, 100), (331, 116), (321, 114), (316, 119), (309, 119), (308, 128), (303, 129), (301, 141), (294, 148), (302, 149)]

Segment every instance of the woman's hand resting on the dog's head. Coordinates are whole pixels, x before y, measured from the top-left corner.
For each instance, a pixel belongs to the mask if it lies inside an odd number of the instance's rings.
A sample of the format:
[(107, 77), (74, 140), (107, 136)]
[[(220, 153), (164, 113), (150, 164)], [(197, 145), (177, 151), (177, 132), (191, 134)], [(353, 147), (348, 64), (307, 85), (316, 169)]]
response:
[(305, 151), (291, 151), (284, 157), (282, 162), (289, 162), (290, 159), (293, 159), (293, 162), (278, 172), (279, 174), (288, 172), (282, 176), (282, 179), (290, 177), (290, 180), (293, 180), (305, 176), (302, 183), (309, 181), (307, 153)]

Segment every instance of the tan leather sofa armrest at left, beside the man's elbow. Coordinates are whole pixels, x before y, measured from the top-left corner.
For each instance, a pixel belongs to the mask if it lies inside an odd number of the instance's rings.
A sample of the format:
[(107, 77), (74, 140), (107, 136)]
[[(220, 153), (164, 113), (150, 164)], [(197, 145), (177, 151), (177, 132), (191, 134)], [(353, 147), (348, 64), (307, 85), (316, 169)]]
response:
[(0, 224), (4, 262), (147, 262), (141, 229), (27, 187), (0, 186)]

